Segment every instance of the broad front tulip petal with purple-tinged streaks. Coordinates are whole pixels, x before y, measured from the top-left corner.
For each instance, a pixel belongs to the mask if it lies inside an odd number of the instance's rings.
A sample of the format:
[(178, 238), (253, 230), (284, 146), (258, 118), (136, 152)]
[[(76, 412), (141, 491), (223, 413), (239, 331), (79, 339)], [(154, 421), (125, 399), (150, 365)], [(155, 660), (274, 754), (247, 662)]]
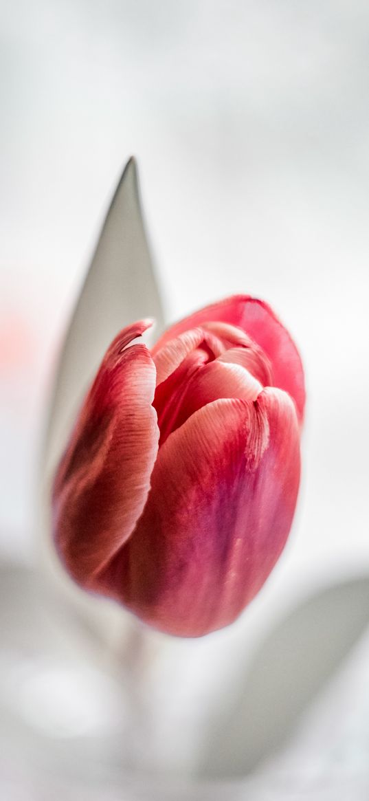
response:
[(279, 390), (217, 400), (170, 434), (102, 591), (171, 634), (231, 623), (275, 565), (299, 486), (295, 406)]

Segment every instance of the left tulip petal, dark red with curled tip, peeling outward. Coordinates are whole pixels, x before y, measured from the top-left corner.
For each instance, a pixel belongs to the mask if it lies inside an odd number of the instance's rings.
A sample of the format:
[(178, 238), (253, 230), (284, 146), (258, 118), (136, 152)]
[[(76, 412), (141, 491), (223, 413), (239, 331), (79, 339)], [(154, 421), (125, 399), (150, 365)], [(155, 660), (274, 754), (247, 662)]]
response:
[(54, 482), (55, 541), (67, 570), (88, 589), (98, 589), (99, 571), (130, 536), (150, 489), (156, 372), (145, 345), (126, 348), (148, 325), (125, 328), (110, 345)]

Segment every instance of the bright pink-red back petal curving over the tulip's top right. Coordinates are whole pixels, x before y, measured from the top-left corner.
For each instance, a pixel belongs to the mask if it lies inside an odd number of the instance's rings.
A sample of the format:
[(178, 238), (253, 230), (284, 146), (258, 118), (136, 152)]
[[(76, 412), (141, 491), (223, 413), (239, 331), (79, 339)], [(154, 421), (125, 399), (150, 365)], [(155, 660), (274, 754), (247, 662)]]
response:
[(295, 400), (299, 421), (302, 421), (305, 387), (299, 352), (286, 328), (263, 300), (248, 295), (235, 295), (211, 304), (171, 326), (158, 340), (156, 347), (162, 347), (167, 340), (178, 336), (187, 328), (215, 321), (243, 328), (263, 348), (271, 361), (273, 383), (289, 392)]

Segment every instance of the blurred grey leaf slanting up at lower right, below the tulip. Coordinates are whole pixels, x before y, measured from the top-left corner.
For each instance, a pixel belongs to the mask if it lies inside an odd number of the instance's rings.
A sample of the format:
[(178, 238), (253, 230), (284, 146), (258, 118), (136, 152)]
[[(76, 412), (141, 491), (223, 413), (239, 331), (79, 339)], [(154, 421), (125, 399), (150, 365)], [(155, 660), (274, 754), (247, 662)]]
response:
[(244, 776), (286, 743), (369, 620), (369, 579), (329, 586), (296, 606), (238, 668), (208, 722), (199, 775)]

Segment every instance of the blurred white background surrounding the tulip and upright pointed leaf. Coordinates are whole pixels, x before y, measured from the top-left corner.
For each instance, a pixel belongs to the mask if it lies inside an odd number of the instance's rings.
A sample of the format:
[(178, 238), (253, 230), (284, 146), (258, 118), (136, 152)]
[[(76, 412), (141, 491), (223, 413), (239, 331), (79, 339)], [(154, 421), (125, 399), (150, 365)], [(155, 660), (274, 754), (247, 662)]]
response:
[(255, 294), (306, 367), (299, 511), (251, 642), (369, 576), (369, 6), (16, 0), (0, 37), (2, 553), (34, 560), (54, 361), (134, 153), (167, 319)]

